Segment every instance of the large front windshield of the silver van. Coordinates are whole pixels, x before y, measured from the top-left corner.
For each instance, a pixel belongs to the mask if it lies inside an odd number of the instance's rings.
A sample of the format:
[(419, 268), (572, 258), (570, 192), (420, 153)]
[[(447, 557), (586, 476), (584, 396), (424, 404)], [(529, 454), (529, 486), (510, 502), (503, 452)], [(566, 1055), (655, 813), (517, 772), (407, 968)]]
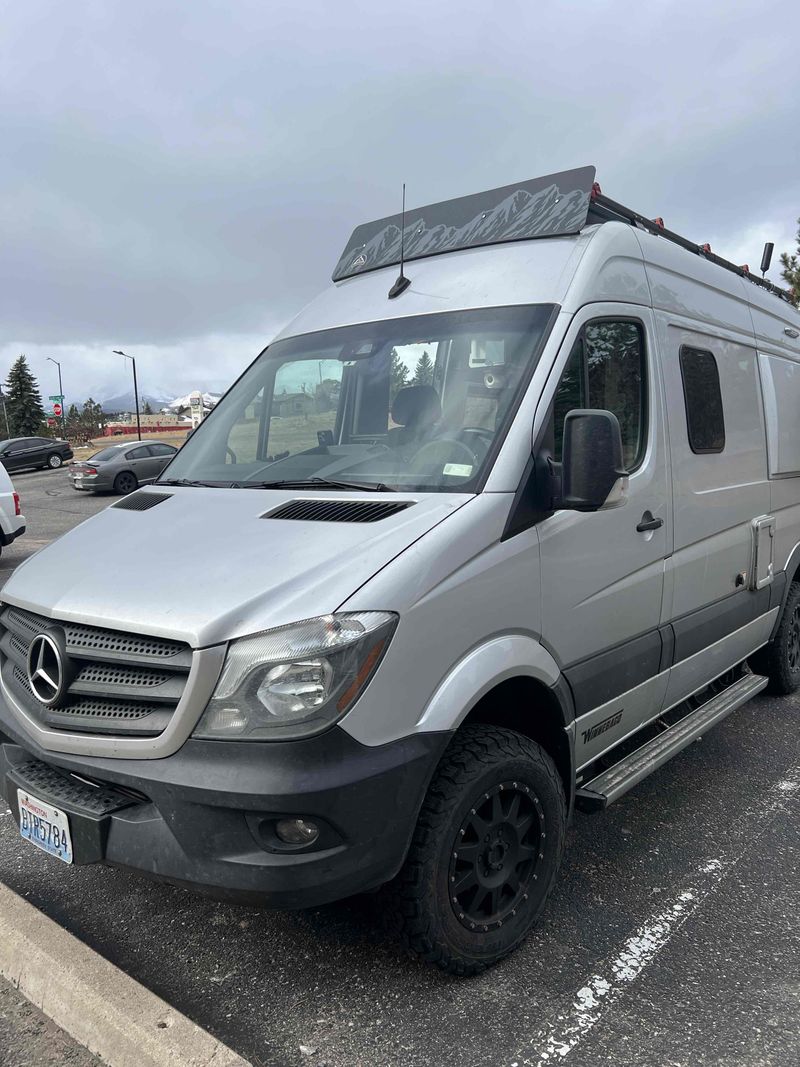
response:
[(448, 312), (278, 340), (162, 480), (468, 492), (494, 460), (551, 313)]

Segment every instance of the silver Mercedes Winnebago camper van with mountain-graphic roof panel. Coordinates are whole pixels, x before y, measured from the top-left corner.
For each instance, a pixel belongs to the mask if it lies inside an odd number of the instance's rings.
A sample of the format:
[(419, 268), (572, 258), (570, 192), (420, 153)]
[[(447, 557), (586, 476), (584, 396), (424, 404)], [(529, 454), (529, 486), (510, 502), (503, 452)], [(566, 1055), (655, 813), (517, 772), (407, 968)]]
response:
[(592, 168), (358, 227), (159, 481), (3, 589), (22, 835), (274, 907), (383, 886), (426, 959), (507, 955), (575, 806), (800, 683), (784, 298)]

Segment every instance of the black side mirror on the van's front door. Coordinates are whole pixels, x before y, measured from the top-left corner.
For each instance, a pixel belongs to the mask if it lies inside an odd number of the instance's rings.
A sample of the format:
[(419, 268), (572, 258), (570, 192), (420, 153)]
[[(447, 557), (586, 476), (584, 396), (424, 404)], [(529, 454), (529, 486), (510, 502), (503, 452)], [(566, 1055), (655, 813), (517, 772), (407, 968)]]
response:
[(577, 410), (564, 419), (561, 507), (599, 511), (627, 498), (622, 433), (610, 411)]

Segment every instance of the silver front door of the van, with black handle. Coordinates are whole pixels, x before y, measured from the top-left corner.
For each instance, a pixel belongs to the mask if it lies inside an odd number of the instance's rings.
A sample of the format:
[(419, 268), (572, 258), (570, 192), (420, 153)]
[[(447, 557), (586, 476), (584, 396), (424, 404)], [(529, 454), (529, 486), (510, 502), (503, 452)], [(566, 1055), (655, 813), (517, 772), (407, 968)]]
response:
[(575, 698), (578, 766), (656, 715), (667, 687), (658, 627), (672, 514), (653, 336), (649, 309), (594, 304), (557, 364), (556, 462), (567, 411), (603, 409), (620, 421), (629, 472), (622, 506), (556, 511), (539, 526), (542, 630)]

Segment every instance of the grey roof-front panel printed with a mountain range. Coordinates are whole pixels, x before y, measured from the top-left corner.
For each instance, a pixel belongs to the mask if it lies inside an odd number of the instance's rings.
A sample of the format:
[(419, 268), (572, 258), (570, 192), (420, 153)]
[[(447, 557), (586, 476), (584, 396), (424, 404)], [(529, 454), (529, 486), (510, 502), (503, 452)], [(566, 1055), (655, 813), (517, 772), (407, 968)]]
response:
[[(405, 259), (502, 241), (578, 234), (587, 223), (594, 168), (581, 166), (405, 212)], [(402, 216), (357, 226), (334, 282), (400, 262)]]

